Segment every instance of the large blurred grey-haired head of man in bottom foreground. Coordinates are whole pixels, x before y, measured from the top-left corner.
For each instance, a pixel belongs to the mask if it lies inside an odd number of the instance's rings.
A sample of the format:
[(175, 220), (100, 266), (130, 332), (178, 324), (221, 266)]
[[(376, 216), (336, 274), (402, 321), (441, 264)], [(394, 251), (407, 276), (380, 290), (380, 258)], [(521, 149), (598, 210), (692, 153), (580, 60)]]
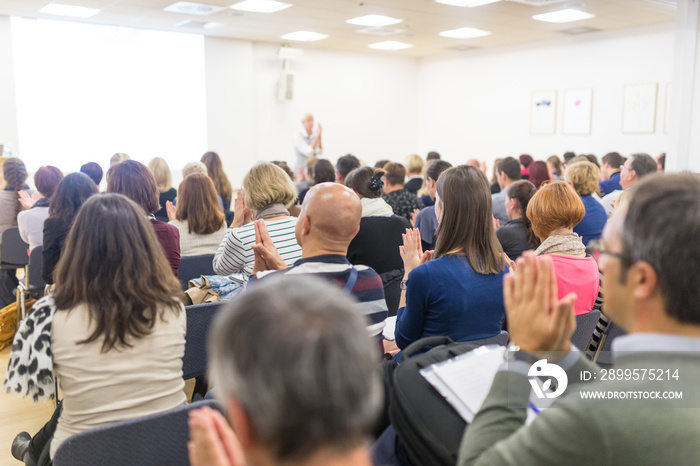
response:
[(219, 313), (211, 377), (276, 464), (366, 441), (382, 400), (376, 345), (356, 304), (313, 276), (270, 277)]

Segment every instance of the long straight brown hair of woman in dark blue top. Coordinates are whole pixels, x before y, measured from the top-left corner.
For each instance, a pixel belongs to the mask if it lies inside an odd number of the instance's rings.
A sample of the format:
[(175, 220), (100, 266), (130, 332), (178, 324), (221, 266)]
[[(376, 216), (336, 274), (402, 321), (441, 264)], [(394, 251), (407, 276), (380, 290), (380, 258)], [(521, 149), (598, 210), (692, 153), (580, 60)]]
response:
[(445, 170), (437, 180), (436, 209), (442, 207), (435, 257), (461, 250), (477, 273), (505, 268), (491, 211), (491, 187), (484, 173), (471, 165)]

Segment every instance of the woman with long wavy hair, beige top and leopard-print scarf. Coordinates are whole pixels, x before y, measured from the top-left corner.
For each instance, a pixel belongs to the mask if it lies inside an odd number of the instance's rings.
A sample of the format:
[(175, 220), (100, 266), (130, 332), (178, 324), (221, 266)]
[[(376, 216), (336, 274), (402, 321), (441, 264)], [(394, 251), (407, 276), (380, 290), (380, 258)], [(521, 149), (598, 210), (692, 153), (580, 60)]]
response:
[(119, 194), (85, 202), (56, 269), (56, 291), (34, 305), (15, 336), (10, 367), (27, 370), (5, 376), (8, 390), (35, 401), (54, 394), (58, 377), (63, 400), (34, 438), (15, 438), (13, 456), (44, 465), (75, 434), (185, 404), (179, 294), (141, 207)]

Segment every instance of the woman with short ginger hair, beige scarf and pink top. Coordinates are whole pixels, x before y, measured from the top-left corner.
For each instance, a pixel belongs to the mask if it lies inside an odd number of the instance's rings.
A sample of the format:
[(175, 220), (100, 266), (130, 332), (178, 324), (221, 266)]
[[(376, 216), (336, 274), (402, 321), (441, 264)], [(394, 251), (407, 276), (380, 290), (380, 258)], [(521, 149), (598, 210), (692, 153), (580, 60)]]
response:
[[(567, 171), (573, 166), (570, 165)], [(565, 181), (542, 186), (532, 196), (526, 210), (532, 231), (542, 241), (535, 255), (551, 258), (560, 299), (570, 292), (576, 293), (576, 315), (597, 307), (600, 287), (595, 259), (586, 255), (586, 247), (579, 235), (574, 233), (574, 227), (585, 214), (586, 208), (581, 198)]]

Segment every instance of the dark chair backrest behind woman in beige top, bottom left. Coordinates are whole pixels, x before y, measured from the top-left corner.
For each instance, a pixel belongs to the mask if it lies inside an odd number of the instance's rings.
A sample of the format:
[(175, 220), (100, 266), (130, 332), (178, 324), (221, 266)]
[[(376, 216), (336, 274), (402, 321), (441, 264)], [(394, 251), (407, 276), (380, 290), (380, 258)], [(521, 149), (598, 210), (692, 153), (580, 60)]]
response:
[(56, 450), (54, 466), (189, 466), (187, 442), (190, 410), (216, 402), (205, 400), (162, 413), (115, 422), (66, 439)]

